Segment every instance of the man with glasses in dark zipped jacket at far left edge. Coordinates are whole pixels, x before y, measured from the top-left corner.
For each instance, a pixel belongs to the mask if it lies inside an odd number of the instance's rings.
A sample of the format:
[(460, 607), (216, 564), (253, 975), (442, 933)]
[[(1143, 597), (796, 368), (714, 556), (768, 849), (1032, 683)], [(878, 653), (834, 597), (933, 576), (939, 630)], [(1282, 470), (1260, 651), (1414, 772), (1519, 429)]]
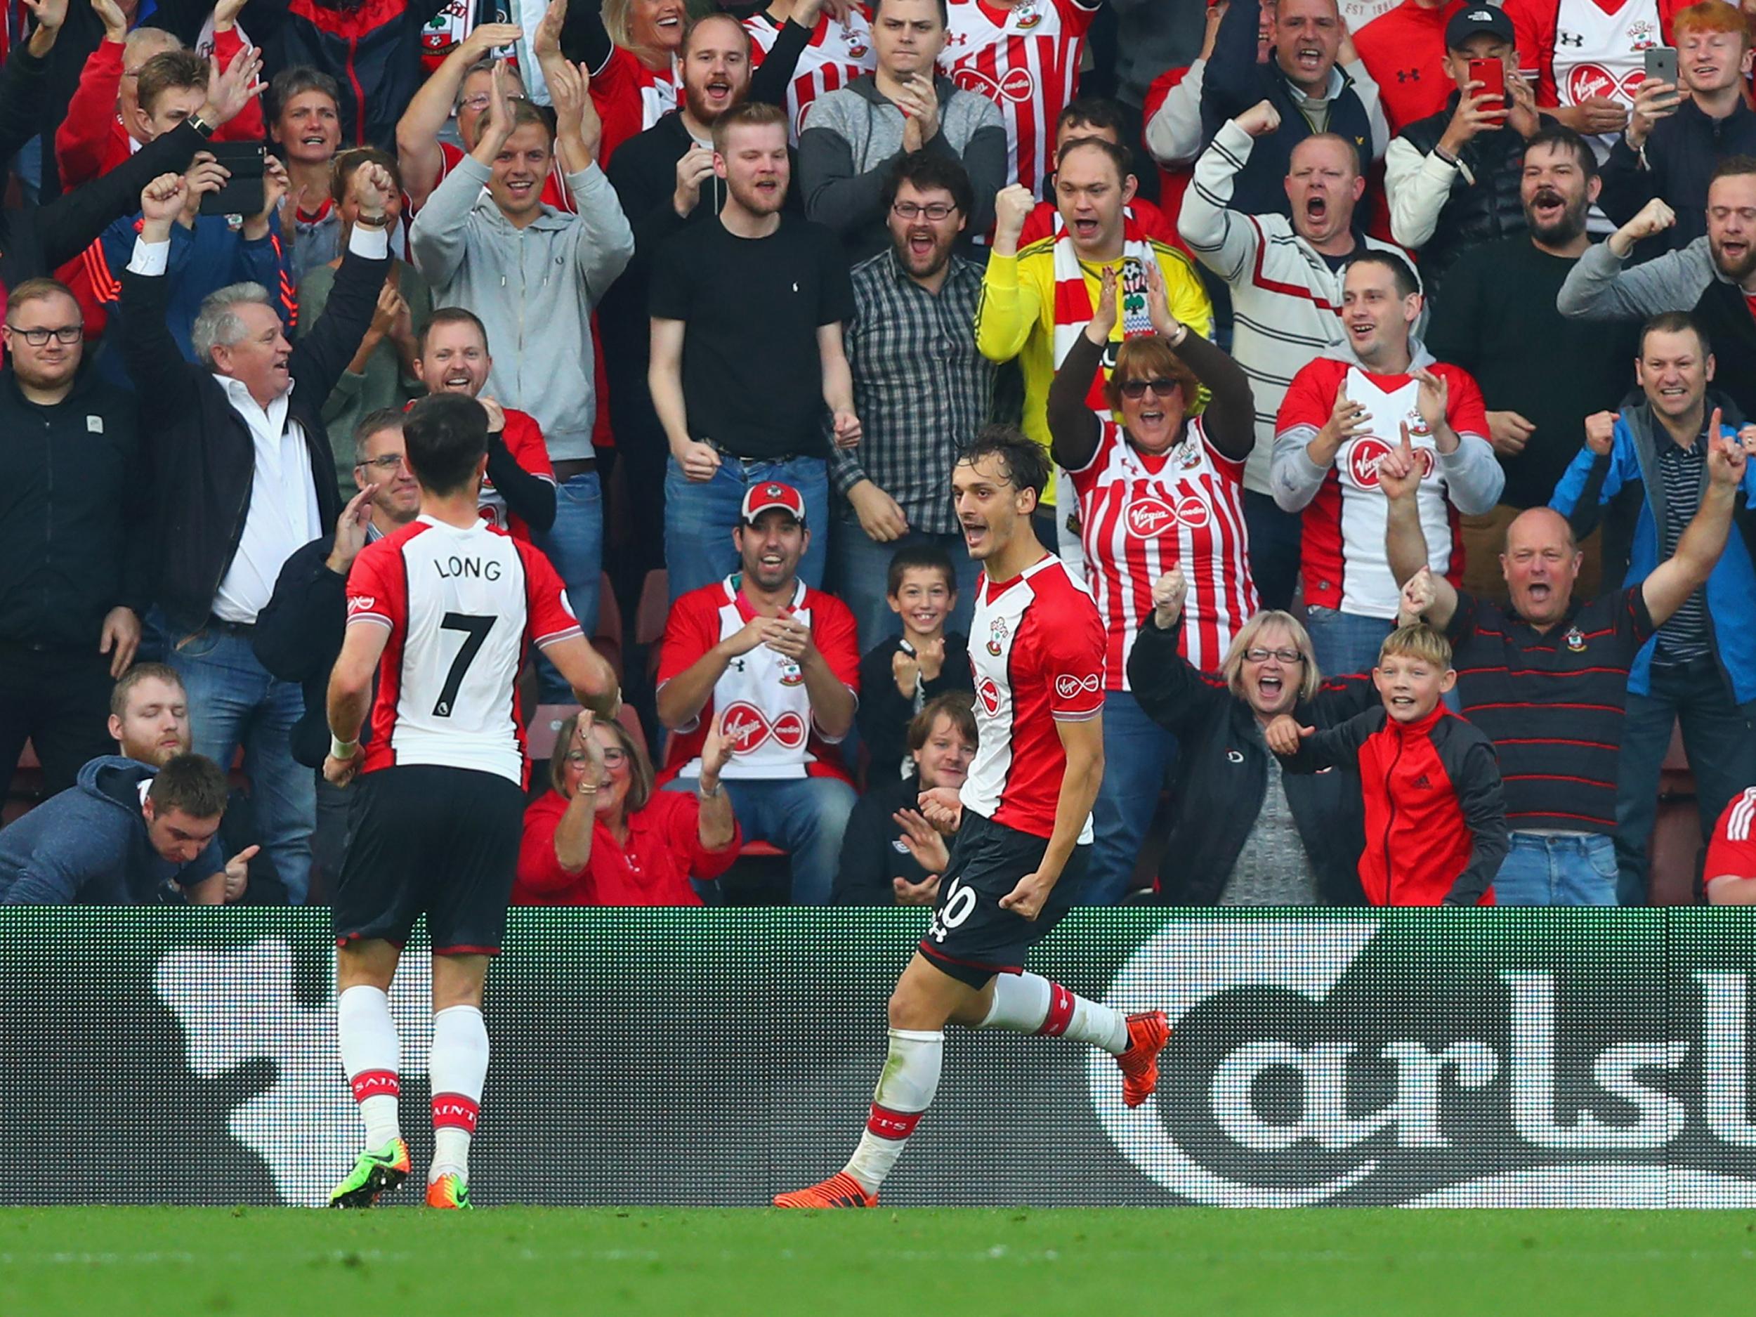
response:
[(153, 506), (133, 395), (83, 365), (72, 291), (54, 279), (12, 288), (4, 337), (0, 797), (26, 738), (44, 794), (109, 753), (109, 690), (133, 662), (149, 597)]

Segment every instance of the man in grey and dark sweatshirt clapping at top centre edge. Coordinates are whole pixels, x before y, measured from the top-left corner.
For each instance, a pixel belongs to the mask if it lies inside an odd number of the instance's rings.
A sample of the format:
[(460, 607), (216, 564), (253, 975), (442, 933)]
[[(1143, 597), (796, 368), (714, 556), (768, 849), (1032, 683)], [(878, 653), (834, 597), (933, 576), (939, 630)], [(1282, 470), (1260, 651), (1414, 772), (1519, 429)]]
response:
[(966, 234), (994, 223), (1006, 177), (1006, 125), (992, 100), (934, 76), (945, 49), (945, 0), (878, 0), (874, 72), (818, 97), (799, 133), (804, 214), (864, 260), (890, 246), (883, 184), (899, 156), (955, 156), (969, 174), (975, 211)]

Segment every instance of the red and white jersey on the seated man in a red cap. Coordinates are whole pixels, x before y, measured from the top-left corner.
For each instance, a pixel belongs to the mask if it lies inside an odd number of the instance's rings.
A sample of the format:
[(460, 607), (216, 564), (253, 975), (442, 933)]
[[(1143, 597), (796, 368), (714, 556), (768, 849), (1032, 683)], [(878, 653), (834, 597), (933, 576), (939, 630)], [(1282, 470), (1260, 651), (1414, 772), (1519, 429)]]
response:
[[(811, 644), (848, 690), (860, 688), (860, 643), (853, 613), (834, 595), (811, 590), (799, 581), (787, 609), (794, 620), (811, 629)], [(745, 599), (736, 576), (690, 590), (671, 606), (658, 658), (658, 687), (694, 667), (720, 641), (745, 629), (757, 611)], [(678, 774), (701, 773), (701, 748), (708, 727), (718, 718), (722, 734), (732, 741), (732, 762), (720, 776), (738, 778), (841, 778), (848, 781), (836, 748), (811, 715), (811, 692), (794, 658), (759, 644), (732, 658), (713, 695), (680, 727), (666, 750), (667, 781)]]

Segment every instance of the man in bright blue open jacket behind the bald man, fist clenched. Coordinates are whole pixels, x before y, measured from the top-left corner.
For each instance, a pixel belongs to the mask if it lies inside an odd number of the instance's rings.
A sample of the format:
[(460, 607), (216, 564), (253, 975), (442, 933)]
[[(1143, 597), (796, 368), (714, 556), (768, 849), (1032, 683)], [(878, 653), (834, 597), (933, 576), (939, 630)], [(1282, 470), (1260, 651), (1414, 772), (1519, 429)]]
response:
[[(1756, 451), (1756, 427), (1733, 435), (1707, 395), (1712, 344), (1684, 311), (1652, 316), (1640, 332), (1635, 374), (1645, 402), (1586, 418), (1586, 448), (1561, 476), (1549, 506), (1575, 539), (1603, 529), (1603, 579), (1638, 585), (1677, 551), (1709, 486), (1705, 437), (1738, 437)], [(1745, 506), (1756, 464), (1740, 481)], [(1617, 572), (1626, 567), (1624, 578)], [(1742, 539), (1726, 544), (1707, 585), (1658, 629), (1628, 676), (1628, 713), (1616, 781), (1616, 862), (1621, 904), (1644, 904), (1647, 841), (1658, 815), (1658, 778), (1670, 729), (1695, 771), (1705, 841), (1726, 808), (1756, 781), (1756, 565)]]

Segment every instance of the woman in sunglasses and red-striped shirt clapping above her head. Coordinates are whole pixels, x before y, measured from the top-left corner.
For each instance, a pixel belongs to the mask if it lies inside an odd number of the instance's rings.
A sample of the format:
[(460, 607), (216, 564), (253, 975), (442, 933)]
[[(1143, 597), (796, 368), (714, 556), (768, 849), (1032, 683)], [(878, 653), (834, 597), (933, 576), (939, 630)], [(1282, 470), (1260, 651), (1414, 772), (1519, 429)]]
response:
[[(1119, 314), (1131, 337), (1105, 378)], [(1201, 388), (1206, 407), (1194, 414)], [(1177, 739), (1129, 694), (1127, 655), (1152, 613), (1152, 583), (1180, 567), (1194, 585), (1180, 639), (1198, 669), (1219, 667), (1256, 611), (1243, 527), (1243, 460), (1256, 444), (1250, 381), (1171, 316), (1155, 262), (1124, 262), (1120, 281), (1105, 270), (1098, 309), (1048, 390), (1048, 434), (1078, 497), (1085, 585), (1110, 637), (1085, 901), (1112, 904), (1127, 894), (1177, 755)]]

